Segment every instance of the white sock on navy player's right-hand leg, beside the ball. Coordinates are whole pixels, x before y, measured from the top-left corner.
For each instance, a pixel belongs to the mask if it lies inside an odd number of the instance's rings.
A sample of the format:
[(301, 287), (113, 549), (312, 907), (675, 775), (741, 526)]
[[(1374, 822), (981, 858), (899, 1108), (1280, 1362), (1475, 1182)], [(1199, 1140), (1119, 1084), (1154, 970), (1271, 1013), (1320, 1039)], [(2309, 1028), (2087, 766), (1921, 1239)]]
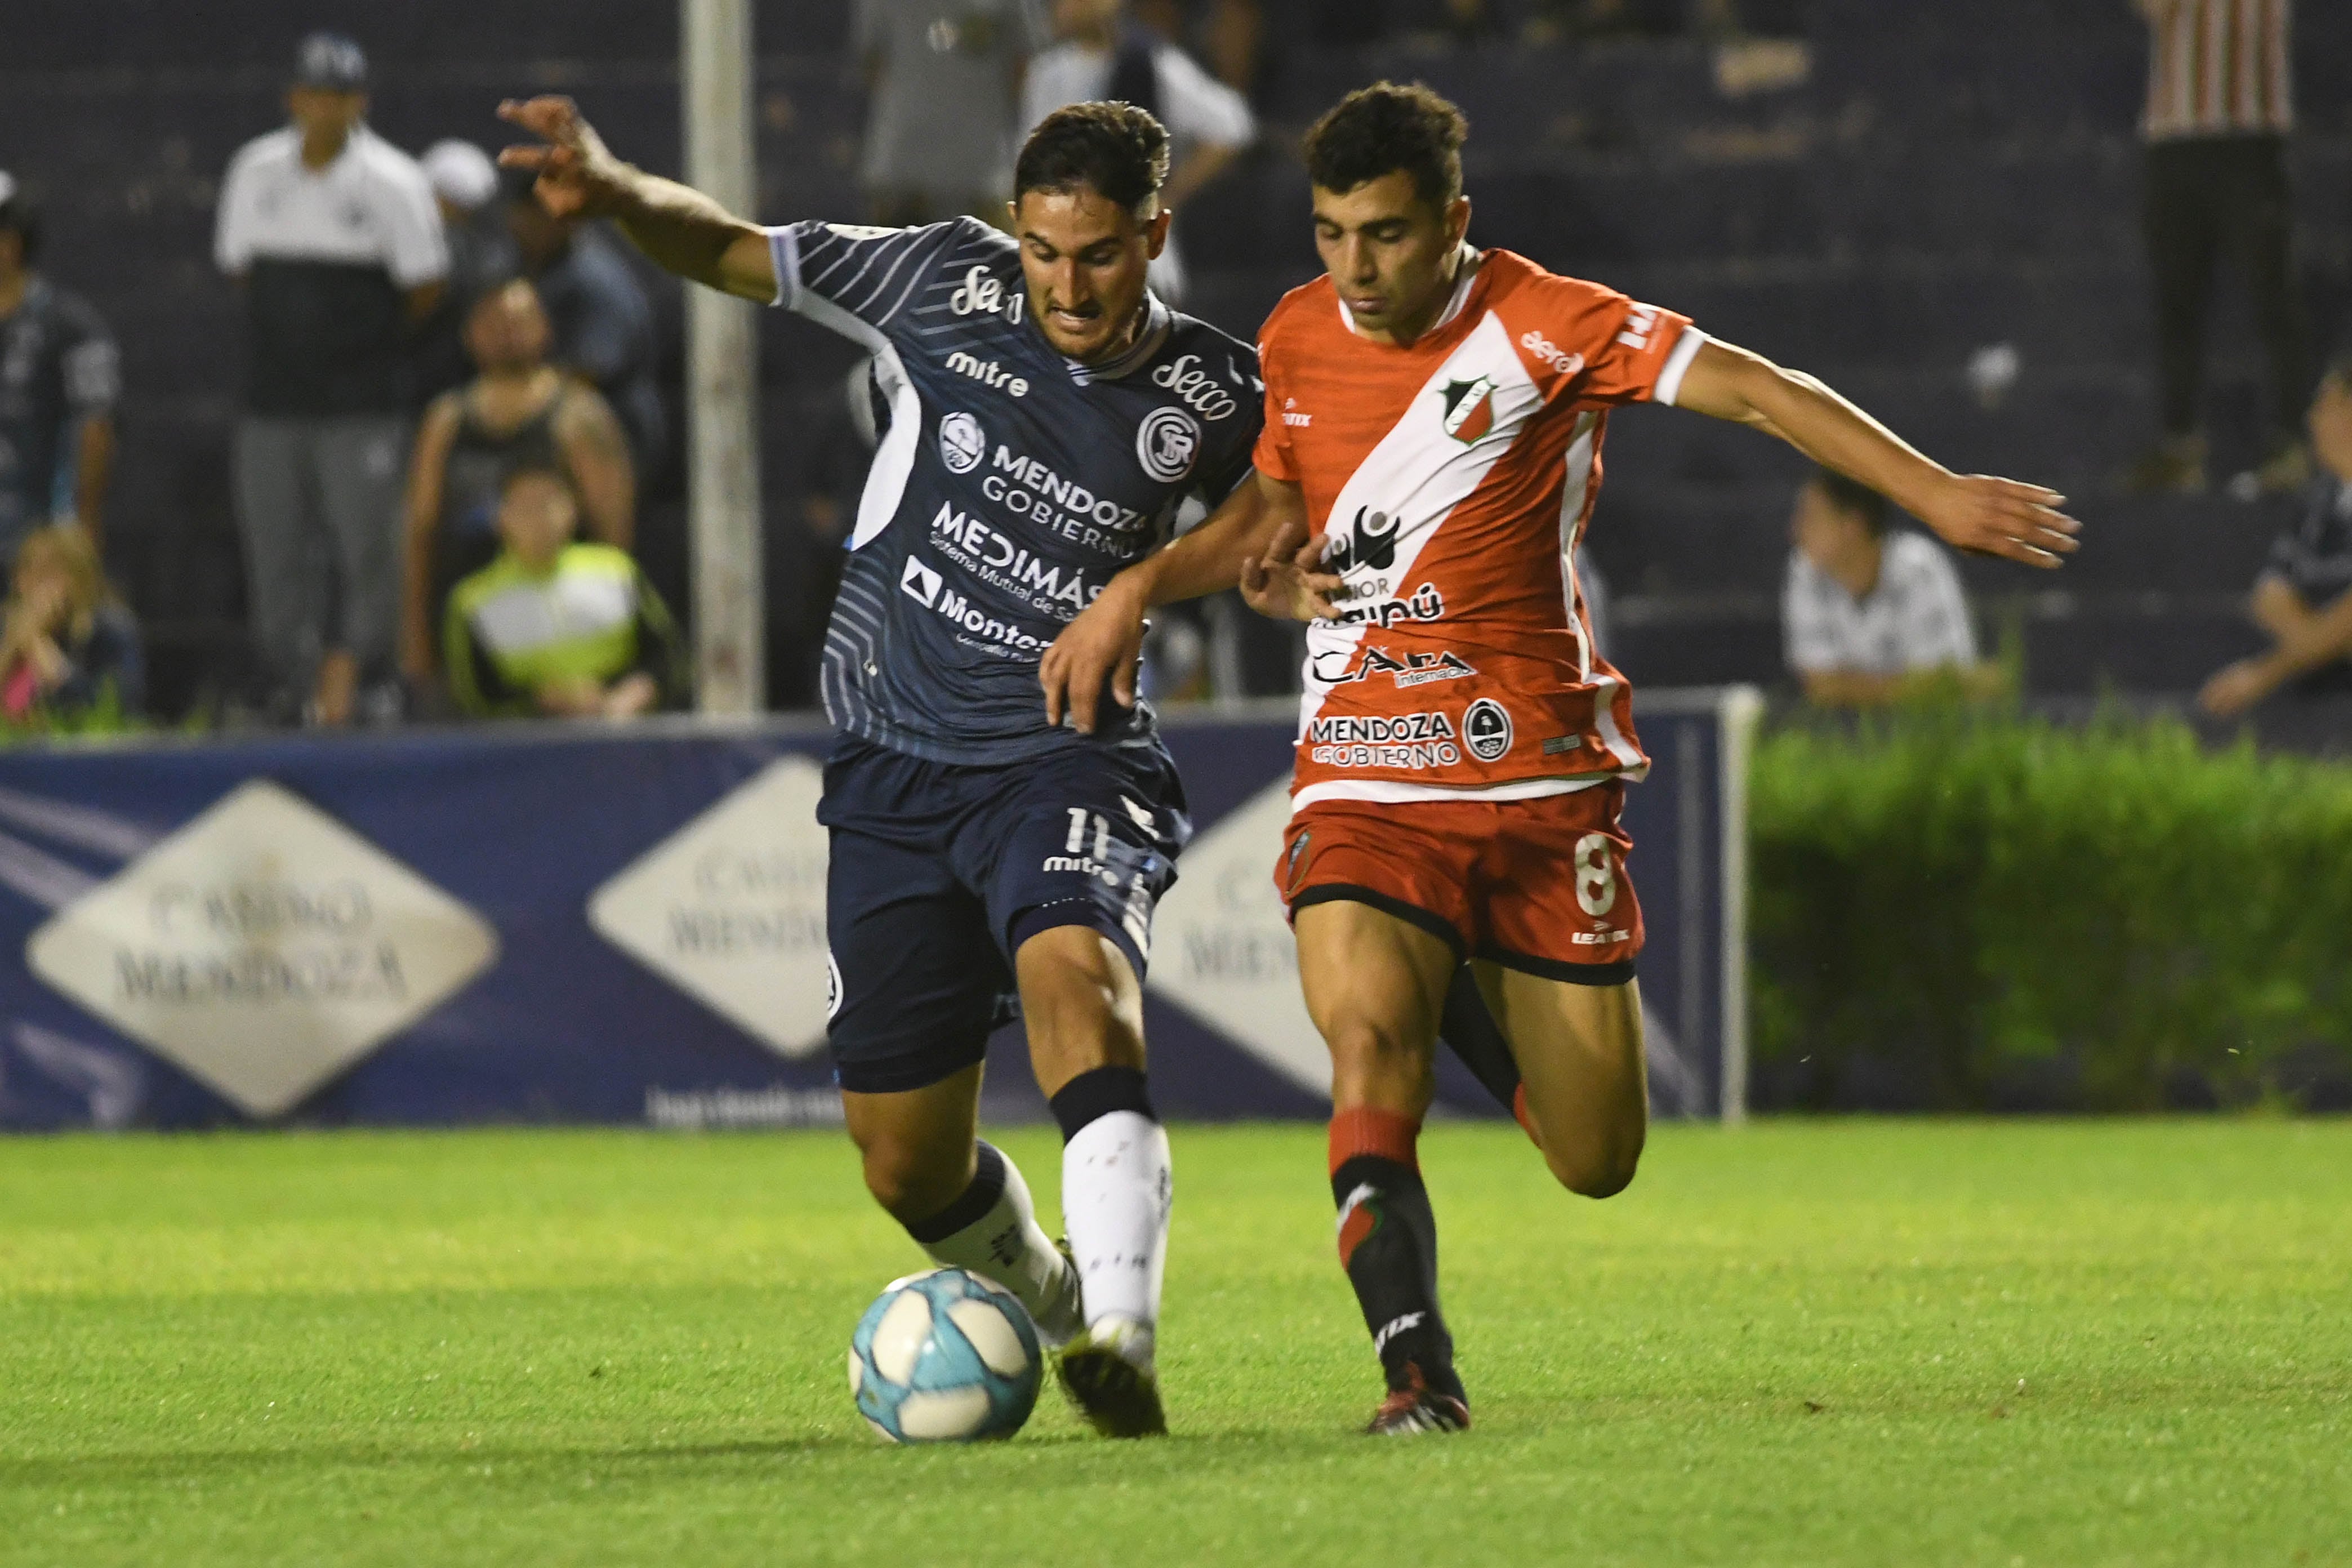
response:
[(1061, 1218), (1084, 1281), (1087, 1328), (1115, 1331), (1122, 1354), (1141, 1366), (1152, 1361), (1160, 1326), (1171, 1192), (1167, 1128), (1143, 1112), (1105, 1112), (1061, 1150)]

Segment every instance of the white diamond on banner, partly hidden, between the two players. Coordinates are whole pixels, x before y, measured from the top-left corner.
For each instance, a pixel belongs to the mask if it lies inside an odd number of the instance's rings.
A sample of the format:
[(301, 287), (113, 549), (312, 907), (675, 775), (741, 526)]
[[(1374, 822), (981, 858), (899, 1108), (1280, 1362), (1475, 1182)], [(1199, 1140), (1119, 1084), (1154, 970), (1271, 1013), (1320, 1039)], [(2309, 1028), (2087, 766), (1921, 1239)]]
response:
[(1152, 922), (1148, 985), (1289, 1081), (1329, 1095), (1331, 1056), (1298, 992), (1298, 947), (1275, 891), (1289, 820), (1291, 783), (1279, 778), (1192, 839)]

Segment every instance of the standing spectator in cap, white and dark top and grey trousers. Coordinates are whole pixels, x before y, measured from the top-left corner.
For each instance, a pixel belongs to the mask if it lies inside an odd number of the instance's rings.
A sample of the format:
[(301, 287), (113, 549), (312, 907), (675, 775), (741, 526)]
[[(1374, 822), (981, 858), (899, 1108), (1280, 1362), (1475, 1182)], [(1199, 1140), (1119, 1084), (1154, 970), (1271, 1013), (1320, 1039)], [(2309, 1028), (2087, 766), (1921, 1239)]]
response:
[[(221, 186), (221, 270), (245, 284), (238, 524), (268, 712), (397, 717), (400, 475), (409, 327), (449, 273), (433, 190), (367, 115), (367, 59), (303, 40), (292, 125), (249, 141)], [(320, 534), (327, 548), (320, 548)], [(332, 569), (327, 569), (332, 562)]]

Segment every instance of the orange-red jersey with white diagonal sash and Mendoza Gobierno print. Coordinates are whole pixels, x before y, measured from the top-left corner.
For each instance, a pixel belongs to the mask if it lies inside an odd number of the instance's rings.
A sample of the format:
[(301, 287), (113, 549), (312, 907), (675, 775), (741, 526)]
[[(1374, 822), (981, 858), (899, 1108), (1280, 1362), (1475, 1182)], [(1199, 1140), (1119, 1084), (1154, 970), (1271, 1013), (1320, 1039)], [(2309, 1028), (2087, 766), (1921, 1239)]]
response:
[(1308, 628), (1298, 806), (1526, 799), (1649, 769), (1571, 552), (1609, 409), (1675, 402), (1705, 336), (1510, 252), (1463, 273), (1402, 348), (1357, 336), (1329, 277), (1261, 334), (1254, 461), (1305, 489), (1345, 581), (1341, 621)]

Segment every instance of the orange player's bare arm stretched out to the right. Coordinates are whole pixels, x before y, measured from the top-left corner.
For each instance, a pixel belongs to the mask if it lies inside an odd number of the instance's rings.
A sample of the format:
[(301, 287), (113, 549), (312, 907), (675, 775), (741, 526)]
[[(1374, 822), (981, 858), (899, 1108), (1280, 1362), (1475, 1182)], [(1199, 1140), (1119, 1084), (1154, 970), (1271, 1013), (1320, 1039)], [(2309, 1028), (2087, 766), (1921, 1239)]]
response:
[(1879, 491), (1959, 550), (2027, 567), (2063, 567), (2077, 550), (2082, 524), (2058, 510), (2065, 503), (2058, 491), (1957, 475), (1813, 376), (1745, 348), (1705, 343), (1675, 407), (1778, 435), (1823, 468)]

